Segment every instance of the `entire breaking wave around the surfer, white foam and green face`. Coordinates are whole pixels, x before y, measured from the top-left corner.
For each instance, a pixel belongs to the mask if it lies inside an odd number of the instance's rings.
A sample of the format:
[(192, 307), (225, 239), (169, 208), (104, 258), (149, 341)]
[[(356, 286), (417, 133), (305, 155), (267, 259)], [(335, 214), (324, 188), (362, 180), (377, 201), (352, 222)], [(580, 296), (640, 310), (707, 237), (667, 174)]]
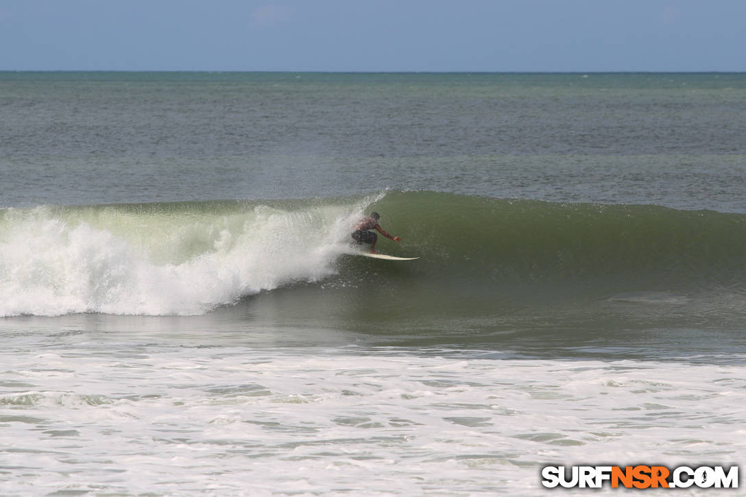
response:
[[(403, 239), (381, 237), (380, 250), (419, 260), (343, 254), (372, 209)], [(671, 300), (746, 293), (745, 247), (741, 214), (434, 192), (4, 209), (0, 316), (200, 314), (324, 281), (397, 287), (419, 301), (517, 291)]]

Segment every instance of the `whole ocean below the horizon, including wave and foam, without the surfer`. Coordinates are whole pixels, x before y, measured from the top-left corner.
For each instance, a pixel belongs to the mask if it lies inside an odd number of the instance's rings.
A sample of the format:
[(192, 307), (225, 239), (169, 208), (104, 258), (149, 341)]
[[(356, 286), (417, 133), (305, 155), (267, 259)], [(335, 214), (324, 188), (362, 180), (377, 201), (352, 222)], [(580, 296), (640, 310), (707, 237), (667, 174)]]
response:
[(0, 72), (0, 118), (3, 496), (746, 459), (744, 74)]

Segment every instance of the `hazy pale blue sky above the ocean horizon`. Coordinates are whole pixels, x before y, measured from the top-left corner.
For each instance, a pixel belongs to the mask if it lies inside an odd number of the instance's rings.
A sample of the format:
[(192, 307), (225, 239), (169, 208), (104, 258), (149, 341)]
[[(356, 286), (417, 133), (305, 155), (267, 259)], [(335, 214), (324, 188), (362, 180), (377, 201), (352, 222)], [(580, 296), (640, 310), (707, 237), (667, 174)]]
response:
[(746, 0), (0, 0), (0, 70), (746, 71)]

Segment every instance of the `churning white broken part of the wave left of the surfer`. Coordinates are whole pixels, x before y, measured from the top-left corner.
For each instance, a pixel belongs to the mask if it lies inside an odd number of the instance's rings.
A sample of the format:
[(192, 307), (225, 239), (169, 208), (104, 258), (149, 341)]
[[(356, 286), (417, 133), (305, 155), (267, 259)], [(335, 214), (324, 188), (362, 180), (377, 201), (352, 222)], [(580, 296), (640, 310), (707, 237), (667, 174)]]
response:
[[(334, 272), (359, 204), (241, 213), (5, 212), (0, 316), (200, 314)], [(72, 212), (72, 213), (71, 213)]]

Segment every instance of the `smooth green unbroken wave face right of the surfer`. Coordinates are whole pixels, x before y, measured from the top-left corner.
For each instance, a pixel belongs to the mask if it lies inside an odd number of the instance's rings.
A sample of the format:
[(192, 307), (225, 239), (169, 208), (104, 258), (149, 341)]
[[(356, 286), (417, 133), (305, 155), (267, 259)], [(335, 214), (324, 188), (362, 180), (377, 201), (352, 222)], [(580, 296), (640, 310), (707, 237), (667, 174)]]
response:
[(423, 257), (423, 277), (687, 290), (738, 285), (746, 268), (738, 214), (430, 192), (392, 193), (373, 207)]

